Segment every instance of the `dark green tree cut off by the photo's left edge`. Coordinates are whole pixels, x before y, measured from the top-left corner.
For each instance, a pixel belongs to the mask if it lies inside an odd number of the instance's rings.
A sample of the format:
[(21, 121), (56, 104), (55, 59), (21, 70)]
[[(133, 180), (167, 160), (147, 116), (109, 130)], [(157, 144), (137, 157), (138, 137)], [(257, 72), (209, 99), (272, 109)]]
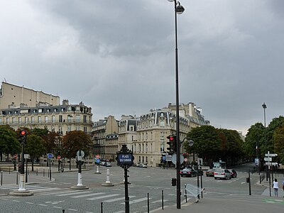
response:
[[(0, 151), (1, 151), (1, 160), (2, 153), (5, 153), (7, 156), (9, 154), (18, 153), (21, 151), (21, 144), (18, 141), (16, 132), (8, 125), (0, 126)], [(6, 160), (9, 160), (8, 158)]]

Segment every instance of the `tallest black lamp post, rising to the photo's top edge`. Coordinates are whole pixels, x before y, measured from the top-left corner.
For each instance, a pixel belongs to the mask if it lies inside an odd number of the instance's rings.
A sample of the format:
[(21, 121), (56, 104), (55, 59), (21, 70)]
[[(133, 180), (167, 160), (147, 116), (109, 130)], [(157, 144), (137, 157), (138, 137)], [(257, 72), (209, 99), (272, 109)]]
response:
[(180, 114), (179, 114), (179, 94), (178, 94), (178, 24), (177, 13), (185, 11), (177, 0), (168, 0), (175, 3), (175, 104), (176, 104), (176, 146), (177, 146), (177, 209), (180, 209)]

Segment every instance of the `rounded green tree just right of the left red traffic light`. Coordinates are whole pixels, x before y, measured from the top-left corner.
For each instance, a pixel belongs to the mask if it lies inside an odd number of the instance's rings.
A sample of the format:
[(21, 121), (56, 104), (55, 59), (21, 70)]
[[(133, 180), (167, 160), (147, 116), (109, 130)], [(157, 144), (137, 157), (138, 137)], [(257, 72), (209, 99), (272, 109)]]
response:
[(25, 151), (31, 157), (31, 170), (33, 171), (33, 162), (35, 158), (40, 157), (40, 155), (43, 155), (46, 152), (45, 141), (40, 136), (32, 133), (27, 136)]

